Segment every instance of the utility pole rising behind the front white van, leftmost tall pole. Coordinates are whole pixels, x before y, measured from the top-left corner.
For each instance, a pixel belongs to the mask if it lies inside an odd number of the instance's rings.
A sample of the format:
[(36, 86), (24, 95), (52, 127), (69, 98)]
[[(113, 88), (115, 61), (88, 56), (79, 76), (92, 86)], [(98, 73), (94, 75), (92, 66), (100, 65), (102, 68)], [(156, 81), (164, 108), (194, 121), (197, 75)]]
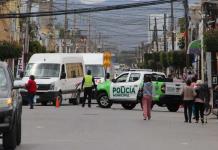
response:
[[(31, 7), (32, 7), (32, 0), (29, 0), (27, 2), (27, 9), (26, 12), (30, 13), (31, 12)], [(26, 66), (26, 62), (27, 62), (27, 56), (29, 53), (29, 25), (30, 25), (30, 18), (27, 17), (26, 18), (26, 30), (25, 30), (25, 35), (24, 35), (24, 66)]]

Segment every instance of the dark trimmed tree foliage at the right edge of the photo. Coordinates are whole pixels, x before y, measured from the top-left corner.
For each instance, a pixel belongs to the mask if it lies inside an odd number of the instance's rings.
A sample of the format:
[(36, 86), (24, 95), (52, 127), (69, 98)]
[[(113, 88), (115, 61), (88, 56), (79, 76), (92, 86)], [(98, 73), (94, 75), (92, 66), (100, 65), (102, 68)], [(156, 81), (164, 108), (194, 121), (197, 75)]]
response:
[(204, 46), (207, 52), (218, 52), (218, 29), (204, 33)]

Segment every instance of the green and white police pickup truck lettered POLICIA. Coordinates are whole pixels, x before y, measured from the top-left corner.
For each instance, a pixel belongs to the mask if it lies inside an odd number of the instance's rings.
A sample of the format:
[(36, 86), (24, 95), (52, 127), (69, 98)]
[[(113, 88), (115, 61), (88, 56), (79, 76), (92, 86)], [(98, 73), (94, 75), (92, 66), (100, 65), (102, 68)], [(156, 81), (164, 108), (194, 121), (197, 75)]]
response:
[(112, 81), (106, 80), (97, 86), (97, 102), (102, 108), (110, 108), (113, 103), (120, 103), (123, 108), (131, 110), (141, 103), (139, 97), (143, 89), (144, 75), (152, 79), (153, 105), (166, 106), (176, 112), (182, 103), (183, 83), (168, 82), (164, 73), (151, 71), (127, 71)]

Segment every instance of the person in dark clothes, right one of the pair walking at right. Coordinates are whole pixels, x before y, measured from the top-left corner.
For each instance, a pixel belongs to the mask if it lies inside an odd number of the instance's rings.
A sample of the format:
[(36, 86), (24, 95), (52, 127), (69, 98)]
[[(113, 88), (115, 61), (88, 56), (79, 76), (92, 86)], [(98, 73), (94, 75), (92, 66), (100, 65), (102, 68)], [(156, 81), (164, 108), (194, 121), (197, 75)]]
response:
[(201, 80), (197, 81), (196, 97), (195, 97), (195, 114), (196, 123), (199, 122), (199, 113), (201, 117), (201, 123), (204, 123), (204, 109), (205, 104), (209, 103), (209, 88)]

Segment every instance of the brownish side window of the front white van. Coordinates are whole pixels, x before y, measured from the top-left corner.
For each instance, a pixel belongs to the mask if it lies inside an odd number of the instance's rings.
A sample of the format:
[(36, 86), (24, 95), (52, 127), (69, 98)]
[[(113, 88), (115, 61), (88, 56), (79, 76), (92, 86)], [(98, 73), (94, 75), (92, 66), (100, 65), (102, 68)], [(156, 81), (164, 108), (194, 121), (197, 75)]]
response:
[(66, 64), (67, 78), (83, 77), (82, 63)]

